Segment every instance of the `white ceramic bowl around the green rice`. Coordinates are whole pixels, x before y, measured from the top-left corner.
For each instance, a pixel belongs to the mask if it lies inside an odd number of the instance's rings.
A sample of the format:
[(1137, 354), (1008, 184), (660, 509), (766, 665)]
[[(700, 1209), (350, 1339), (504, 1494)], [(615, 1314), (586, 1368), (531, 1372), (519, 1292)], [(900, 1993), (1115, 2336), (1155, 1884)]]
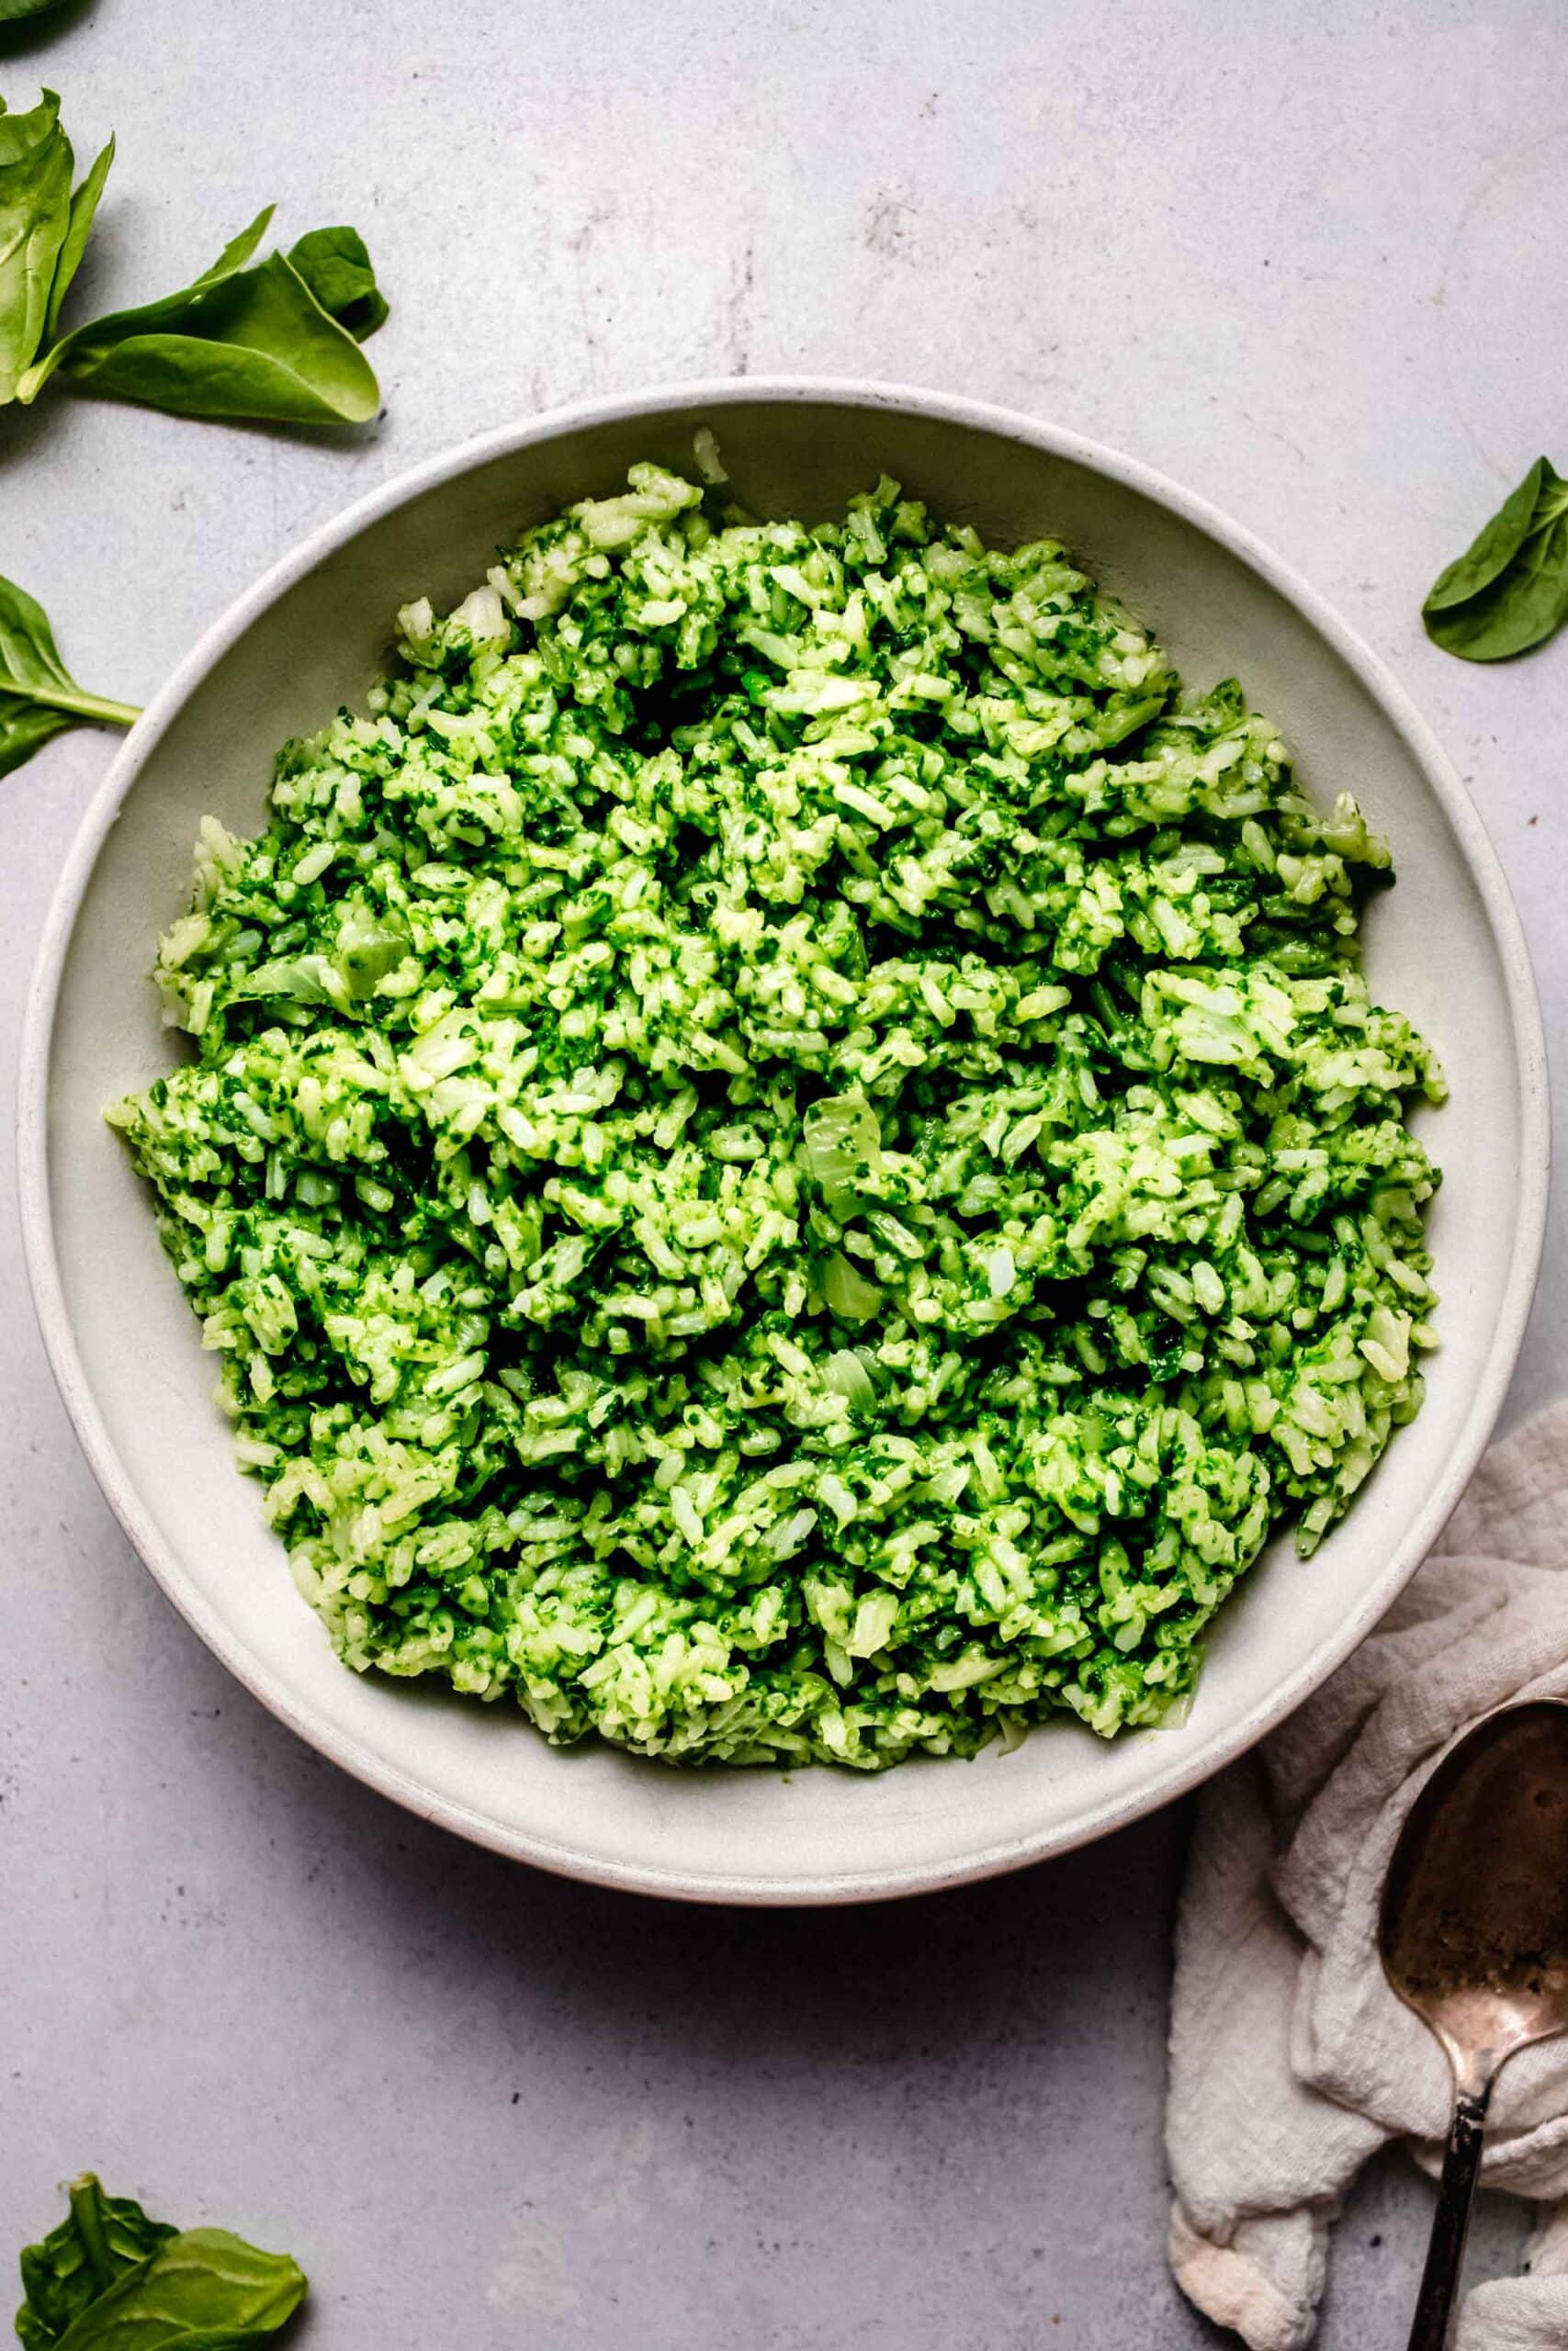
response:
[[(879, 1780), (679, 1773), (555, 1751), (510, 1707), (360, 1679), (329, 1653), (240, 1479), (214, 1366), (101, 1119), (167, 1065), (148, 964), (212, 809), (256, 828), (275, 745), (355, 703), (407, 597), (451, 600), (496, 541), (630, 461), (684, 465), (712, 423), (748, 503), (823, 515), (893, 473), (1001, 543), (1060, 531), (1199, 682), (1237, 672), (1319, 797), (1352, 785), (1394, 842), (1368, 919), (1380, 994), (1436, 1041), (1453, 1100), (1422, 1119), (1441, 1354), (1349, 1519), (1312, 1561), (1276, 1542), (1225, 1608), (1180, 1730), (1072, 1723), (1018, 1754)], [(336, 1763), (501, 1853), (722, 1902), (853, 1902), (950, 1886), (1100, 1836), (1258, 1740), (1363, 1639), (1458, 1500), (1514, 1364), (1547, 1187), (1540, 1011), (1519, 919), (1458, 778), (1349, 630), (1234, 524), (1114, 456), (999, 409), (842, 383), (703, 383), (567, 409), (421, 465), (277, 564), (176, 670), (108, 771), (45, 931), (21, 1079), (24, 1232), (66, 1406), (169, 1599)]]

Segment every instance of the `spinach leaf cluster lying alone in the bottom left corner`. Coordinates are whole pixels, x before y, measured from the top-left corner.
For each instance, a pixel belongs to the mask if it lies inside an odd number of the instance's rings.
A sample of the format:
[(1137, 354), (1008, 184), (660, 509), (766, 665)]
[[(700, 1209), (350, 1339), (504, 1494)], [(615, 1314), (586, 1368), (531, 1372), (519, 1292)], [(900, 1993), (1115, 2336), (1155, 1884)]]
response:
[(287, 2252), (228, 2229), (172, 2229), (92, 2172), (71, 2217), (21, 2255), (26, 2351), (242, 2351), (270, 2344), (306, 2295)]

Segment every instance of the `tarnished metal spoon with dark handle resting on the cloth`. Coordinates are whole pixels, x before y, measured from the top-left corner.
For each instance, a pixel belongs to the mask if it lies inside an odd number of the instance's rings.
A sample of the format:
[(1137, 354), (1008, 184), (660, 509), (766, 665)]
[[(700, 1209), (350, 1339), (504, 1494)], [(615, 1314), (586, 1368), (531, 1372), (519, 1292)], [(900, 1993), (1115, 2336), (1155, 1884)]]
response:
[(1568, 2031), (1568, 1702), (1488, 1714), (1443, 1756), (1382, 1893), (1382, 1968), (1453, 2067), (1453, 2128), (1410, 2351), (1443, 2351), (1481, 2130), (1514, 2050)]

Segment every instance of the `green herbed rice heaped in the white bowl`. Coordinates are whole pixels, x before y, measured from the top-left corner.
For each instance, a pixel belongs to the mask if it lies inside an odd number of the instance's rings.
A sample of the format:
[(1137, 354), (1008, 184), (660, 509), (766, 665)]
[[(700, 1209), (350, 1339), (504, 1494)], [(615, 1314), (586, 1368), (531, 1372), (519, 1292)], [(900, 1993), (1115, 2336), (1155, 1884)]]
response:
[(719, 496), (400, 616), (110, 1117), (350, 1667), (726, 1763), (1161, 1721), (1420, 1404), (1387, 849), (1053, 541)]

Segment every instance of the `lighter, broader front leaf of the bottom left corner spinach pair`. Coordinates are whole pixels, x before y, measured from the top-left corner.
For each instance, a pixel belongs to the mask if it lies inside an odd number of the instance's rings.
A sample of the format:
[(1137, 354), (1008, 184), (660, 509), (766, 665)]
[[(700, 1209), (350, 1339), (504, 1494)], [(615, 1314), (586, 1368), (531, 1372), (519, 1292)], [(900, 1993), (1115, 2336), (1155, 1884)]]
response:
[(287, 2252), (183, 2229), (89, 2302), (54, 2351), (242, 2351), (270, 2344), (303, 2297)]

